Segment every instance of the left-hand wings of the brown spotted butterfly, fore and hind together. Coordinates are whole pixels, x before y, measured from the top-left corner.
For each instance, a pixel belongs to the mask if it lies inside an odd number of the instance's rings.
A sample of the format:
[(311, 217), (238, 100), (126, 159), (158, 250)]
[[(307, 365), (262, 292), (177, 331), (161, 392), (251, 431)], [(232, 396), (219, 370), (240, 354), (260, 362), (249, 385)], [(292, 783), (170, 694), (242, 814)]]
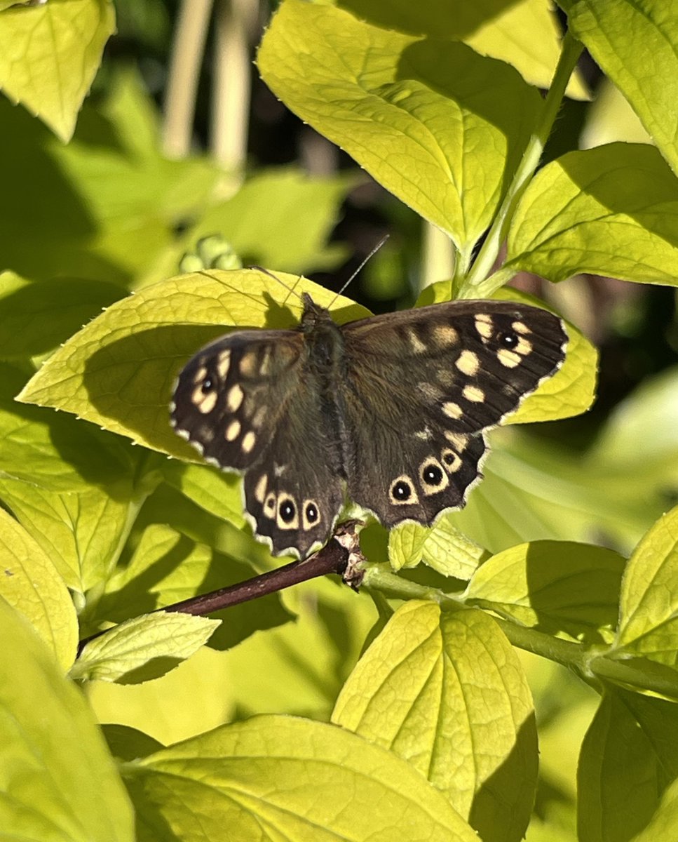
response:
[(238, 331), (179, 375), (172, 426), (205, 461), (245, 474), (246, 514), (275, 555), (305, 557), (331, 535), (343, 492), (317, 374), (297, 331)]

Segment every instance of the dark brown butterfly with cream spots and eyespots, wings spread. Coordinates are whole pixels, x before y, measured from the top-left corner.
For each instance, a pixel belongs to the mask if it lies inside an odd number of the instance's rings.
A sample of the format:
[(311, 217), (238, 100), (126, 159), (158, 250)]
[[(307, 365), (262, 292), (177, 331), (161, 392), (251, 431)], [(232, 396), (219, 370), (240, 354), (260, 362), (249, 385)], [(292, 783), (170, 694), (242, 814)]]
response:
[(387, 527), (432, 525), (482, 478), (485, 433), (560, 368), (559, 317), (450, 301), (338, 325), (302, 294), (297, 328), (238, 330), (200, 349), (170, 406), (205, 461), (244, 475), (274, 555), (331, 537), (347, 494)]

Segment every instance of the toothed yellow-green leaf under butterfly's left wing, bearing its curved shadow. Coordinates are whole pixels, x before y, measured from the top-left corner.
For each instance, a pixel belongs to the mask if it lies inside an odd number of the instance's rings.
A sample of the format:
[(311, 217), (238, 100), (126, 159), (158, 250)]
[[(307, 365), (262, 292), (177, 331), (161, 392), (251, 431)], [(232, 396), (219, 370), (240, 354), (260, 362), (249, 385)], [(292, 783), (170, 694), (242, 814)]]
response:
[[(294, 325), (301, 302), (283, 284), (310, 292), (320, 305), (335, 298), (294, 275), (278, 278), (256, 269), (215, 269), (146, 287), (66, 342), (17, 400), (76, 413), (147, 447), (199, 461), (169, 425), (172, 383), (188, 356), (225, 328)], [(346, 298), (336, 308), (338, 322), (366, 312)]]

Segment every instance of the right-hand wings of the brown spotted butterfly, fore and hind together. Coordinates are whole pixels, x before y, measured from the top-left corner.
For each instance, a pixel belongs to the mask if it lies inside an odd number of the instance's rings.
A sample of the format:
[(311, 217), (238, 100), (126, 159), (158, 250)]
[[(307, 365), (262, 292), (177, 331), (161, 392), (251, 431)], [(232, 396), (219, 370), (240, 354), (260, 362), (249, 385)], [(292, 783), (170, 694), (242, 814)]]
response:
[(348, 494), (386, 526), (431, 524), (482, 477), (484, 431), (559, 369), (563, 322), (512, 301), (454, 301), (351, 322)]

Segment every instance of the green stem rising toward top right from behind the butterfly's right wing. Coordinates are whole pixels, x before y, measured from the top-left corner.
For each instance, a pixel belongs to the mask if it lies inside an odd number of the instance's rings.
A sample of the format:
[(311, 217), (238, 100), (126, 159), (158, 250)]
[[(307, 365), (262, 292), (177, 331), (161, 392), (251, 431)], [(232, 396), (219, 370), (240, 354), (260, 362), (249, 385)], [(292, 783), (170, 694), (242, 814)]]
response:
[(574, 71), (583, 47), (569, 32), (564, 36), (562, 49), (554, 73), (551, 87), (543, 103), (542, 119), (539, 121), (522, 156), (522, 161), (516, 169), (511, 185), (506, 191), (501, 207), (495, 216), (495, 221), (485, 237), (485, 242), (478, 253), (473, 268), (469, 272), (463, 289), (459, 290), (460, 298), (479, 298), (490, 296), (496, 289), (506, 282), (506, 273), (495, 272), (489, 278), (487, 274), (495, 264), (499, 255), (501, 243), (506, 239), (511, 218), (516, 205), (532, 179), (542, 157), (543, 148), (553, 128), (560, 104), (563, 101), (565, 88), (569, 77)]

